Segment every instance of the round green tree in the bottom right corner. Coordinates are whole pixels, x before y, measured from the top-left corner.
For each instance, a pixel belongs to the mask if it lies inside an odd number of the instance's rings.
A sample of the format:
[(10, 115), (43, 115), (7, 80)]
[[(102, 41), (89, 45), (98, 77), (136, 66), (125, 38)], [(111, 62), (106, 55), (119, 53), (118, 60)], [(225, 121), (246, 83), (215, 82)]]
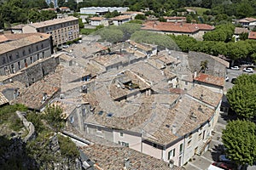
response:
[(245, 120), (231, 121), (222, 135), (226, 154), (237, 165), (253, 165), (256, 161), (256, 125)]

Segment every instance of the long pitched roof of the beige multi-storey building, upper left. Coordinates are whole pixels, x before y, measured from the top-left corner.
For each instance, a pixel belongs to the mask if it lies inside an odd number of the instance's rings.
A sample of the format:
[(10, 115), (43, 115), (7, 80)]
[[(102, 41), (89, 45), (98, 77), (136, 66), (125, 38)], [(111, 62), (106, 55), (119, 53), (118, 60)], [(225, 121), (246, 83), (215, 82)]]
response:
[(42, 28), (44, 26), (53, 26), (55, 24), (61, 24), (61, 23), (65, 23), (65, 22), (73, 21), (73, 20), (79, 20), (79, 19), (76, 17), (73, 17), (73, 16), (68, 16), (68, 17), (61, 18), (61, 19), (45, 20), (43, 22), (32, 23), (29, 26), (32, 26), (35, 28)]

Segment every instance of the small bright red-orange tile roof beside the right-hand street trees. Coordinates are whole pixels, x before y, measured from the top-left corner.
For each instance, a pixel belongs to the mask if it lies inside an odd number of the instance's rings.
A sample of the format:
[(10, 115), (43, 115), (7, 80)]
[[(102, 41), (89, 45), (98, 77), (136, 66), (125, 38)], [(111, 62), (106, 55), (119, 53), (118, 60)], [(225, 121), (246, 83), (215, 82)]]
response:
[(224, 77), (214, 77), (212, 75), (200, 73), (197, 77), (194, 78), (194, 80), (224, 87)]

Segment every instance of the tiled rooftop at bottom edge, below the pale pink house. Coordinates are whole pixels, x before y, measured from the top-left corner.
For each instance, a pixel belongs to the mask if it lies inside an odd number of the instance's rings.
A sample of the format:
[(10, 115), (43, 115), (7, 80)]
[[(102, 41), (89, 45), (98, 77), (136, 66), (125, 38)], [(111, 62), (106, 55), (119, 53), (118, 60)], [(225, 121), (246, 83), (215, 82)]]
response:
[(160, 161), (152, 156), (147, 156), (136, 150), (120, 146), (105, 146), (102, 144), (91, 144), (82, 148), (84, 154), (89, 156), (90, 160), (96, 163), (97, 167), (104, 170), (120, 170), (123, 169), (125, 158), (130, 161), (130, 167), (127, 170), (137, 169), (160, 169), (160, 170), (177, 170), (181, 167), (168, 167), (168, 163)]

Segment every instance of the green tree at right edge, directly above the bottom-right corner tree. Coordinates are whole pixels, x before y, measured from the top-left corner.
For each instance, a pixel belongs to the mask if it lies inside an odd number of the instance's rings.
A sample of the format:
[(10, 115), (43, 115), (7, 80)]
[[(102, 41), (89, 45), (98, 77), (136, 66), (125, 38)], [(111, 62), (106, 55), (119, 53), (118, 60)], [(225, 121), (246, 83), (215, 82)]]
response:
[(231, 109), (238, 116), (253, 118), (256, 116), (256, 75), (243, 74), (227, 93)]

